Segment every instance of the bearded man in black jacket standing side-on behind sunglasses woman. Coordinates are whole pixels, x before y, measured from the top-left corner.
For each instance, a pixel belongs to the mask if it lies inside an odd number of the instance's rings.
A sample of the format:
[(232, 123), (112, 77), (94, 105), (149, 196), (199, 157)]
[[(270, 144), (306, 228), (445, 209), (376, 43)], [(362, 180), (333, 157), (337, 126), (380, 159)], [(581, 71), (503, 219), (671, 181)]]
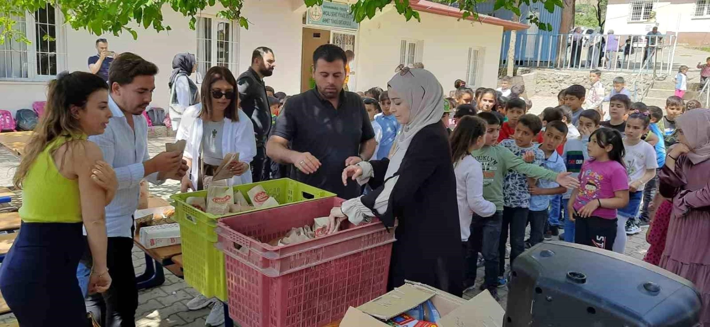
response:
[(239, 75), (239, 79), (236, 80), (241, 109), (254, 124), (256, 157), (251, 162), (253, 182), (261, 182), (268, 178), (268, 176), (263, 176), (263, 162), (266, 157), (266, 138), (271, 131), (271, 110), (268, 106), (263, 78), (273, 74), (273, 69), (276, 67), (275, 62), (271, 49), (256, 48), (251, 53), (251, 67)]

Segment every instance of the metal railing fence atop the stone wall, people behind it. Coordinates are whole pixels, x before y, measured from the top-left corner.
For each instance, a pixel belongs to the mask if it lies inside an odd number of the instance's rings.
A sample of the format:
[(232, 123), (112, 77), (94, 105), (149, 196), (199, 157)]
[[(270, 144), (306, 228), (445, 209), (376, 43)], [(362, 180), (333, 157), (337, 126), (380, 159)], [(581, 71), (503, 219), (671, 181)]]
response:
[[(510, 35), (503, 35), (503, 49)], [(675, 35), (523, 34), (515, 40), (518, 67), (674, 73)], [(507, 52), (501, 53), (501, 66)]]

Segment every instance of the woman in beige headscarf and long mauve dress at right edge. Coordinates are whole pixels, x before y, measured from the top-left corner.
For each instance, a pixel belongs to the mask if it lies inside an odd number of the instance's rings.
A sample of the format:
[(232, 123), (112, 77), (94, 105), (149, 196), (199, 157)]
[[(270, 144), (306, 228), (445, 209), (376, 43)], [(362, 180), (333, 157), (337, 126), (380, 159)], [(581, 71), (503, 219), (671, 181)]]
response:
[(659, 266), (697, 287), (700, 323), (710, 326), (710, 109), (693, 109), (676, 120), (679, 143), (659, 172), (660, 193), (673, 199)]

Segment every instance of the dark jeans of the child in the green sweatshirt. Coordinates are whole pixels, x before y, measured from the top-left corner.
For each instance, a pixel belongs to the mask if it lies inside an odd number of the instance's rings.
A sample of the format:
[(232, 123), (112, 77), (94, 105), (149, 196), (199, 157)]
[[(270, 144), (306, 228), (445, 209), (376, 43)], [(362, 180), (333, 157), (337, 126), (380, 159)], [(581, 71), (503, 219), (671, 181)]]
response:
[[(498, 256), (498, 240), (501, 238), (501, 221), (503, 211), (496, 211), (490, 217), (481, 217), (474, 214), (471, 221), (471, 236), (468, 241), (468, 251), (466, 254), (465, 278), (467, 284), (473, 285), (476, 281), (476, 265), (479, 260), (479, 252), (486, 261), (485, 271), (486, 287), (496, 287), (498, 285), (498, 262), (503, 260)], [(505, 258), (505, 257), (503, 257)]]

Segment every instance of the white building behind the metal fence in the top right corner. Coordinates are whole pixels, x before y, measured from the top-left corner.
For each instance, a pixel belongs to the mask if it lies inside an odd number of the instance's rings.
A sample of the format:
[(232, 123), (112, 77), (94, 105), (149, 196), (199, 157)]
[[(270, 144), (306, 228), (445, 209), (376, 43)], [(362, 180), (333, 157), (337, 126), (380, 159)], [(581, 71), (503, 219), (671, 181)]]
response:
[(710, 45), (710, 0), (609, 0), (606, 31), (645, 34), (653, 26), (678, 43)]

